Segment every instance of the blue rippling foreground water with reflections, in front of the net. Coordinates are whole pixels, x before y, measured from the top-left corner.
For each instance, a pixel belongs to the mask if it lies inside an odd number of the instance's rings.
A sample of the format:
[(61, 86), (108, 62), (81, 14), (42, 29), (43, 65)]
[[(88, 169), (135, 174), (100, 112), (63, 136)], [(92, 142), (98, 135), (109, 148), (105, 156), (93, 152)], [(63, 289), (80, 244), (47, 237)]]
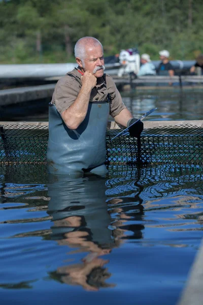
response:
[(202, 169), (1, 168), (1, 304), (176, 304), (202, 237)]

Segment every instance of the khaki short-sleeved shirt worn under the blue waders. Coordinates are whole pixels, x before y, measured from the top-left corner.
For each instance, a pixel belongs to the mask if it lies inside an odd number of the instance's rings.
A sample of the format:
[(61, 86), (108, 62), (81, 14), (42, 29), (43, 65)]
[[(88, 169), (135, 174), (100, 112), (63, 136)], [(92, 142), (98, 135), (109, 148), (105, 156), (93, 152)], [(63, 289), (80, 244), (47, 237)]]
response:
[[(81, 83), (81, 74), (76, 69), (70, 73), (74, 74)], [(75, 102), (81, 89), (79, 82), (70, 75), (63, 76), (57, 82), (51, 104), (56, 106), (60, 114)], [(111, 95), (112, 100), (110, 103), (110, 114), (114, 117), (126, 107), (111, 76), (106, 74), (106, 84), (103, 77), (97, 78), (97, 84), (91, 91), (90, 101), (106, 101), (108, 93)]]

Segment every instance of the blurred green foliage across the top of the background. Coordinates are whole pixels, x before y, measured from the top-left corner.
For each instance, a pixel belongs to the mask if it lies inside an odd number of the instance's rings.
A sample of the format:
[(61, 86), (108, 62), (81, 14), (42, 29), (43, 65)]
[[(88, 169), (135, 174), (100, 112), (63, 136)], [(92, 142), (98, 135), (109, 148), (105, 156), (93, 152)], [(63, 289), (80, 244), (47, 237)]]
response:
[(194, 59), (202, 51), (200, 0), (10, 0), (0, 2), (0, 63), (74, 61), (83, 36), (101, 41), (105, 55), (138, 47), (158, 59)]

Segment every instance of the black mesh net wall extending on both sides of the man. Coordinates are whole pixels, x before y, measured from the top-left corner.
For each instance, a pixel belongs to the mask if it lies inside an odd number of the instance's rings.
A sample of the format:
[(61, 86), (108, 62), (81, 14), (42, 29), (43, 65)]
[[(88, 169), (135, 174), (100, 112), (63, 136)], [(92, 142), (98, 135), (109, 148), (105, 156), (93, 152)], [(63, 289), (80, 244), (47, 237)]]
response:
[[(184, 124), (144, 129), (140, 140), (128, 131), (107, 129), (107, 160), (110, 165), (203, 163), (203, 129)], [(0, 126), (0, 164), (46, 164), (48, 125)]]

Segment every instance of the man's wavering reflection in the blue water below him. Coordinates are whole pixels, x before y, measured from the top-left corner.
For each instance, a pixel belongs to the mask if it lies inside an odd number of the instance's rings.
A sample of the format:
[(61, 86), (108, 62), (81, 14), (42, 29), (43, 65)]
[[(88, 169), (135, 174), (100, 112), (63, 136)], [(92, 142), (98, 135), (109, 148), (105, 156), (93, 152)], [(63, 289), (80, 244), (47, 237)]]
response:
[[(119, 247), (127, 231), (134, 232), (127, 236), (128, 239), (142, 238), (144, 226), (126, 223), (132, 217), (134, 219), (134, 211), (130, 212), (124, 199), (109, 200), (111, 208), (108, 211), (105, 177), (52, 175), (50, 180), (48, 214), (53, 218), (51, 238), (60, 246), (73, 248), (69, 254), (84, 253), (80, 263), (58, 267), (50, 276), (66, 284), (81, 285), (86, 290), (114, 287), (115, 284), (106, 283), (111, 277), (105, 266), (109, 260), (99, 256), (106, 256), (113, 248)], [(136, 217), (142, 218), (139, 195), (134, 201), (138, 201)], [(123, 207), (117, 207), (121, 202)], [(111, 215), (117, 215), (116, 219), (112, 220)]]

